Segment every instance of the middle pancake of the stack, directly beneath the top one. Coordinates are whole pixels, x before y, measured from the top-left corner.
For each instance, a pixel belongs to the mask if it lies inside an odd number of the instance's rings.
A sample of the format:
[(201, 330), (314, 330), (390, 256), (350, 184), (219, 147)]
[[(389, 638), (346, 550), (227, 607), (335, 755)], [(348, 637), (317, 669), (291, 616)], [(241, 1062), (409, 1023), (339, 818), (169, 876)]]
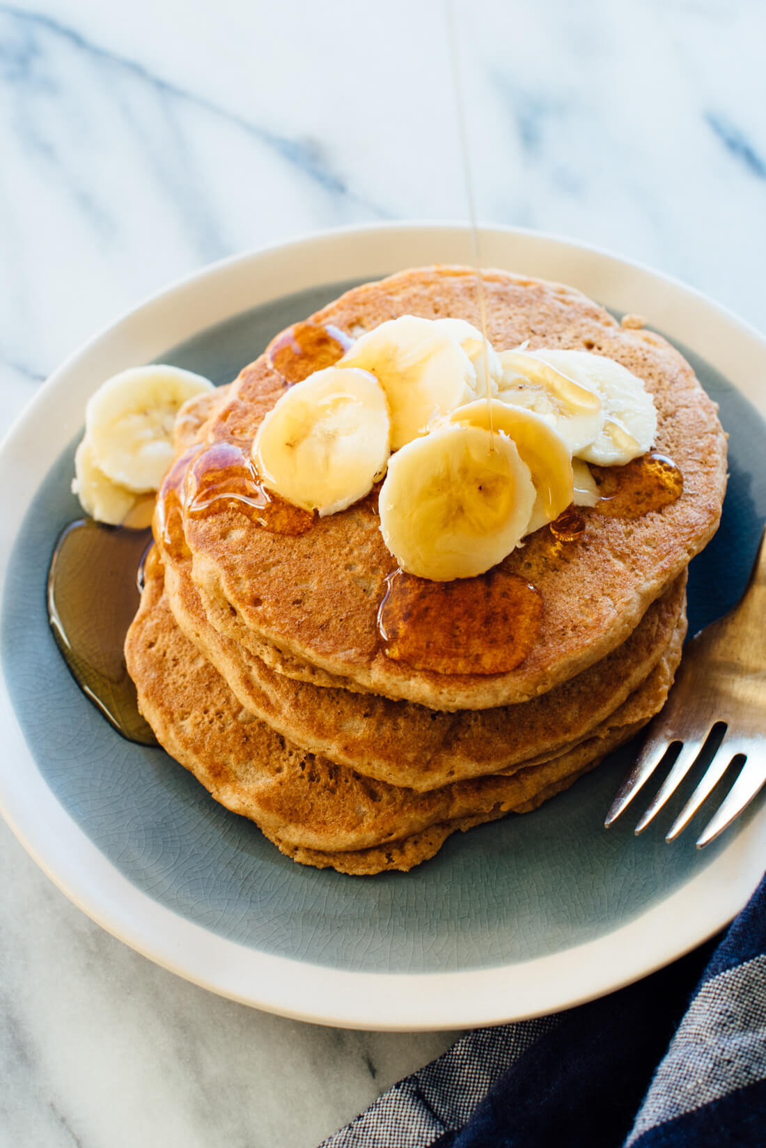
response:
[(680, 626), (686, 571), (649, 607), (622, 645), (549, 692), (518, 705), (444, 713), (276, 673), (210, 625), (188, 561), (165, 563), (175, 619), (241, 705), (295, 745), (369, 777), (425, 791), (546, 760), (581, 740), (653, 669)]

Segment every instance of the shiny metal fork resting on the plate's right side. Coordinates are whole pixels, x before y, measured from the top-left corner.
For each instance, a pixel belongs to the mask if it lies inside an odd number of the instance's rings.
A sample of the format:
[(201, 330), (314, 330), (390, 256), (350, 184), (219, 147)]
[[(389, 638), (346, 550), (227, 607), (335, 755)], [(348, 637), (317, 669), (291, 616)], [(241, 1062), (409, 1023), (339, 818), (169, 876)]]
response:
[(699, 758), (714, 727), (724, 739), (702, 781), (665, 838), (672, 841), (691, 821), (737, 758), (744, 765), (697, 841), (707, 845), (732, 824), (766, 783), (766, 529), (740, 603), (687, 644), (665, 707), (647, 730), (635, 766), (604, 825), (609, 828), (651, 777), (672, 746), (680, 752), (653, 801), (635, 828), (643, 832)]

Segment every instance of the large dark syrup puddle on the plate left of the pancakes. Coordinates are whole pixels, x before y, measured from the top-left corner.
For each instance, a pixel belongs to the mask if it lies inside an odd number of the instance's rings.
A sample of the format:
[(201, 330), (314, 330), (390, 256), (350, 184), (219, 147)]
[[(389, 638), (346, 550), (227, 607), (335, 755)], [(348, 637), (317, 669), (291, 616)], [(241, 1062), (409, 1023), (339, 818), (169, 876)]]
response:
[(72, 677), (130, 742), (156, 745), (138, 712), (123, 646), (139, 603), (148, 529), (80, 519), (63, 530), (48, 571), (48, 619)]

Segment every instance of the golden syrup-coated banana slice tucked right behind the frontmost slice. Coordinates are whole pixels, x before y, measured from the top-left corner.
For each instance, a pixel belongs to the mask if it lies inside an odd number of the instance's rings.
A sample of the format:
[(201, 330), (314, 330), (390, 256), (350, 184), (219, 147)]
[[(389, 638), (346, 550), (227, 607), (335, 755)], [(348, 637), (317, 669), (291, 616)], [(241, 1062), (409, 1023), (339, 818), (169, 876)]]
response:
[(546, 418), (523, 406), (506, 406), (483, 398), (452, 411), (442, 425), (492, 428), (513, 441), (523, 463), (529, 467), (536, 491), (532, 517), (525, 534), (532, 534), (555, 518), (572, 502), (574, 483), (570, 448)]

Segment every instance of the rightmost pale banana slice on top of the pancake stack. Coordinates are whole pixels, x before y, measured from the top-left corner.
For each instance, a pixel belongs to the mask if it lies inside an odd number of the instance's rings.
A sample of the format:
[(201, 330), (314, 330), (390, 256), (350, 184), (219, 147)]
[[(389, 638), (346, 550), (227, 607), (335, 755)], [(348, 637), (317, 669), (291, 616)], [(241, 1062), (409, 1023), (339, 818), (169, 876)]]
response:
[(598, 466), (622, 466), (647, 453), (657, 434), (657, 410), (642, 379), (605, 355), (566, 350), (534, 354), (574, 383), (596, 391), (602, 401), (603, 427), (573, 453)]

